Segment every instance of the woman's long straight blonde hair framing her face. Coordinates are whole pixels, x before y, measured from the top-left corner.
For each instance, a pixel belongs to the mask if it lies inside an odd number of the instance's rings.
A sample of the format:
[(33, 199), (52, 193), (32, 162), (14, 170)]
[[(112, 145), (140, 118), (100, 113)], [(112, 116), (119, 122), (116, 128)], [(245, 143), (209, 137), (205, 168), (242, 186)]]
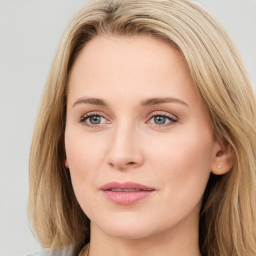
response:
[(43, 91), (29, 163), (29, 216), (43, 247), (89, 241), (64, 166), (67, 79), (96, 36), (148, 34), (177, 47), (188, 64), (217, 137), (235, 152), (233, 167), (211, 174), (199, 225), (203, 255), (256, 255), (256, 100), (243, 61), (223, 26), (191, 0), (94, 0), (63, 33)]

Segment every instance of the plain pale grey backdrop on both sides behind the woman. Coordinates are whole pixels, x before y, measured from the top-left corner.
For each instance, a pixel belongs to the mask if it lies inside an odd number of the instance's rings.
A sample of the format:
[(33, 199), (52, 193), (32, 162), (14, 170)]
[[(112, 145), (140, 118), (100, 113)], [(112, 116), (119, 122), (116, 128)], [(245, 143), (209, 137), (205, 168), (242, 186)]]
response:
[[(256, 0), (197, 0), (228, 29), (256, 84)], [(27, 220), (28, 156), (60, 36), (87, 0), (0, 0), (0, 255), (40, 246)]]

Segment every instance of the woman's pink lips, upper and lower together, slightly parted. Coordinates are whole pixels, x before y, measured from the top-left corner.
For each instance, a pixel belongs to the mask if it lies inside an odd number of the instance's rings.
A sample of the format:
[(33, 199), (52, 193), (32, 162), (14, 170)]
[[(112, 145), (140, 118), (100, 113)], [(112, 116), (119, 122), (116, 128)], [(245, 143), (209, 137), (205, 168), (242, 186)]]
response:
[(100, 187), (104, 196), (117, 204), (133, 204), (153, 193), (155, 189), (135, 182), (109, 182)]

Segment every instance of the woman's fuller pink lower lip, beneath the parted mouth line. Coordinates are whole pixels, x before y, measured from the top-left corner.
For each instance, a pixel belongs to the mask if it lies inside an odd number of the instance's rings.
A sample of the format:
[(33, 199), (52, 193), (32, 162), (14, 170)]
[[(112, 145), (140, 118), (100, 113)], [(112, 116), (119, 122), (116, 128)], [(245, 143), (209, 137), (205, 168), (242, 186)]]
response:
[(111, 190), (101, 190), (104, 196), (117, 204), (132, 204), (153, 193), (154, 190), (140, 190), (134, 192), (115, 192)]

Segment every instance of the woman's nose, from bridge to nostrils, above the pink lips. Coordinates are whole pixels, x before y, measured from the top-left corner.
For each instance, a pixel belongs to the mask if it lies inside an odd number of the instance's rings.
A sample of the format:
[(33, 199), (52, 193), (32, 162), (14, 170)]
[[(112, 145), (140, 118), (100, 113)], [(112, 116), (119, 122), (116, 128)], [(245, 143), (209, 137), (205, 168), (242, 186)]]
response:
[(113, 130), (106, 160), (119, 170), (136, 168), (143, 163), (140, 136), (134, 127), (119, 125)]

